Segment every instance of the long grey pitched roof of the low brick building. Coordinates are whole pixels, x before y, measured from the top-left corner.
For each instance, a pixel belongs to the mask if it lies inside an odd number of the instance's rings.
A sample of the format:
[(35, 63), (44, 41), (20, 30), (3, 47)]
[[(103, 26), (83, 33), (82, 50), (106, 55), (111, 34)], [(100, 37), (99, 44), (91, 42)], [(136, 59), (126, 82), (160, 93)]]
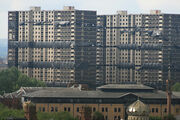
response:
[[(38, 90), (24, 95), (25, 97), (34, 98), (120, 98), (128, 94), (133, 94), (141, 98), (153, 99), (166, 99), (166, 92), (103, 92), (101, 90), (94, 91), (81, 91), (77, 88), (50, 88)], [(180, 96), (172, 95), (173, 99), (180, 99)]]

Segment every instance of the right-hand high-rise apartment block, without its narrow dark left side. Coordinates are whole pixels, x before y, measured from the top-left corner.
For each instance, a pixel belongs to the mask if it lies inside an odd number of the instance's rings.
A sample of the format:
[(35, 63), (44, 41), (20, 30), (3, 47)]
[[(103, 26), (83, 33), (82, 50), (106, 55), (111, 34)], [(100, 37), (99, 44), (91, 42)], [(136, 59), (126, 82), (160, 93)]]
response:
[(162, 87), (167, 79), (178, 81), (179, 26), (180, 15), (159, 10), (107, 15), (105, 82)]

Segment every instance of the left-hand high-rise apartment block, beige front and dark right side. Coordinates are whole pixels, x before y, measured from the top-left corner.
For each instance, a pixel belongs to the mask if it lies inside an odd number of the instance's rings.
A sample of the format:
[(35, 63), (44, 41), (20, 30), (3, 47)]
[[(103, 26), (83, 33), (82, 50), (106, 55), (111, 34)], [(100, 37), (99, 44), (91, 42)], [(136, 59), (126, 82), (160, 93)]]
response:
[(45, 82), (94, 84), (96, 19), (96, 11), (72, 6), (9, 11), (9, 67)]

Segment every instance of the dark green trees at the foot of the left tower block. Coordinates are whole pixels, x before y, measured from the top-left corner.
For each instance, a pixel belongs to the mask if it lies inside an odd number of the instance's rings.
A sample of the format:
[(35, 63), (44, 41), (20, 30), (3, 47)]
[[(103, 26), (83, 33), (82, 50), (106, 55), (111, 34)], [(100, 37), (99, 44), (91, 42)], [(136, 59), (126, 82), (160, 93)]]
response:
[(0, 94), (10, 93), (20, 87), (43, 87), (42, 81), (30, 78), (22, 74), (16, 67), (9, 68), (0, 72)]

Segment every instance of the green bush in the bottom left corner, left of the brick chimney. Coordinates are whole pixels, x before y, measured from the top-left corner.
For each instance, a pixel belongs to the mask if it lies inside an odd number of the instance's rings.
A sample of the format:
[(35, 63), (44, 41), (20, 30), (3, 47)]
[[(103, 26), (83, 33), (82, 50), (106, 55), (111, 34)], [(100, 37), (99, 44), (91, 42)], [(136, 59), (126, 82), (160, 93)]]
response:
[(9, 109), (4, 105), (0, 104), (0, 120), (5, 120), (6, 118), (24, 118), (23, 110)]

